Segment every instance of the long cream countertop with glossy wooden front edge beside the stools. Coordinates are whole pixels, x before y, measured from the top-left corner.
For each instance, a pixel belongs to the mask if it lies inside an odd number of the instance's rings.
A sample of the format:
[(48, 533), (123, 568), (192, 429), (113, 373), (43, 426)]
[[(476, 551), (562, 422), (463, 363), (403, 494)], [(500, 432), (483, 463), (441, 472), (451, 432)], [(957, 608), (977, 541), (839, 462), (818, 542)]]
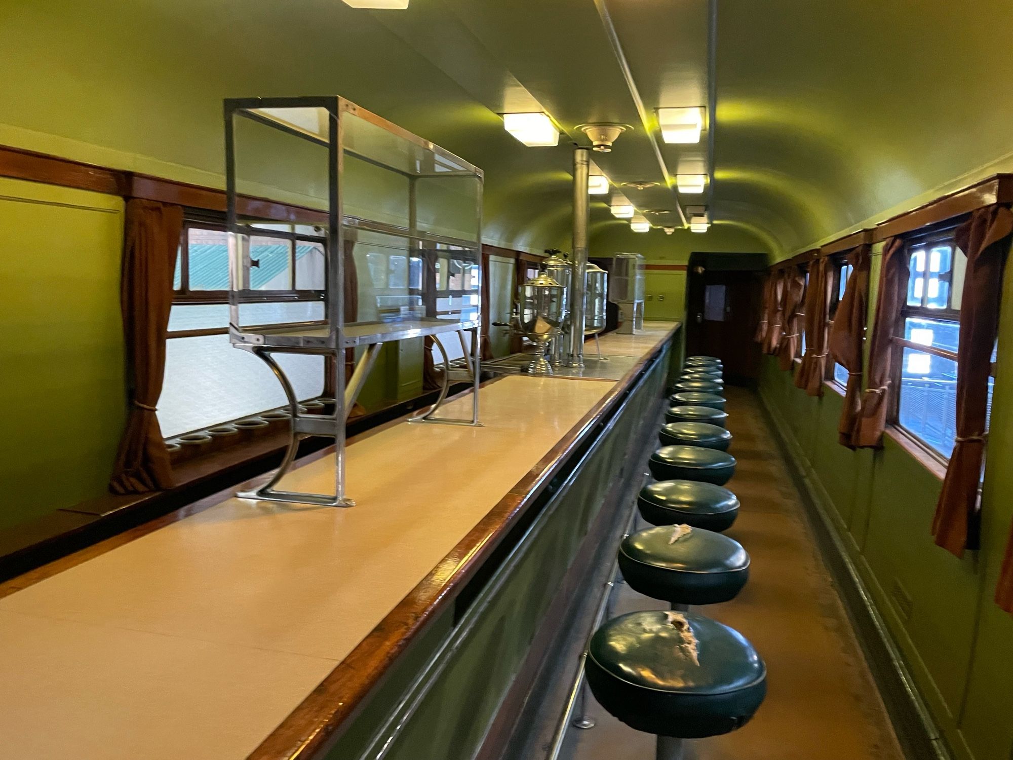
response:
[[(640, 357), (618, 382), (503, 377), (482, 428), (355, 440), (356, 508), (220, 495), (0, 586), (5, 756), (316, 756), (677, 327), (603, 337)], [(317, 455), (282, 487), (332, 473)]]

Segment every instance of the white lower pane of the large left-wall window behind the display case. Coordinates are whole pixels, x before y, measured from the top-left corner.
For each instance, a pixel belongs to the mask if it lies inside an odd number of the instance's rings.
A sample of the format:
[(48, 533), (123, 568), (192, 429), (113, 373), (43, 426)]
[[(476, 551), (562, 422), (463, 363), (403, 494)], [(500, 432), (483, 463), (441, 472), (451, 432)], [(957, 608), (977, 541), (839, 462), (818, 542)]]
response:
[[(282, 354), (300, 399), (323, 392), (323, 358)], [(234, 349), (228, 335), (175, 337), (165, 344), (165, 381), (158, 422), (166, 438), (254, 414), (286, 402), (263, 362)]]

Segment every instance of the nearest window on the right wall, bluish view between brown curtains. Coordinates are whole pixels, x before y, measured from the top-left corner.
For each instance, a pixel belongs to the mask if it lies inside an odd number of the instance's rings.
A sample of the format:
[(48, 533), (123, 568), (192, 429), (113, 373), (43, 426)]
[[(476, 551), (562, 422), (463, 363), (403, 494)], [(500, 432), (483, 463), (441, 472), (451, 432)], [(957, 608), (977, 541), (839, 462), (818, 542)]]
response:
[[(948, 459), (956, 435), (956, 352), (967, 257), (956, 247), (952, 227), (912, 238), (908, 256), (908, 294), (893, 337), (892, 422)], [(990, 414), (993, 382), (990, 378)]]

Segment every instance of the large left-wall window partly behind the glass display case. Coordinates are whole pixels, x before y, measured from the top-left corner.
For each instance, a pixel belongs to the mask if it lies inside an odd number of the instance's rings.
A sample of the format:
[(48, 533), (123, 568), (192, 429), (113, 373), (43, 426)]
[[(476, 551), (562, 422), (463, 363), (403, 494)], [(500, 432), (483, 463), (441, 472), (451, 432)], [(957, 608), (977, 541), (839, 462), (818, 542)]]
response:
[[(262, 297), (244, 306), (250, 323), (323, 319), (325, 240), (313, 227), (258, 225), (250, 238), (246, 287)], [(222, 219), (187, 219), (179, 241), (158, 421), (166, 438), (286, 403), (270, 370), (229, 343), (228, 235)], [(323, 358), (276, 355), (299, 398), (323, 392)]]

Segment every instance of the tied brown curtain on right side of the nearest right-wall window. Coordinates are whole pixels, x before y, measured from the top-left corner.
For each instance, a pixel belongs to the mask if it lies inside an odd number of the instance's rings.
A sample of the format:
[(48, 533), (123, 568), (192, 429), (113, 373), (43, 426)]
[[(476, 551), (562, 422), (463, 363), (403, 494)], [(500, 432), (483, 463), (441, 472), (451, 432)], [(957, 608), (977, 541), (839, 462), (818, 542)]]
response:
[(956, 445), (932, 520), (936, 544), (956, 556), (980, 545), (978, 485), (985, 458), (992, 349), (999, 329), (1003, 265), (1011, 232), (1013, 212), (1005, 206), (979, 209), (956, 231), (956, 244), (967, 254), (957, 347)]

